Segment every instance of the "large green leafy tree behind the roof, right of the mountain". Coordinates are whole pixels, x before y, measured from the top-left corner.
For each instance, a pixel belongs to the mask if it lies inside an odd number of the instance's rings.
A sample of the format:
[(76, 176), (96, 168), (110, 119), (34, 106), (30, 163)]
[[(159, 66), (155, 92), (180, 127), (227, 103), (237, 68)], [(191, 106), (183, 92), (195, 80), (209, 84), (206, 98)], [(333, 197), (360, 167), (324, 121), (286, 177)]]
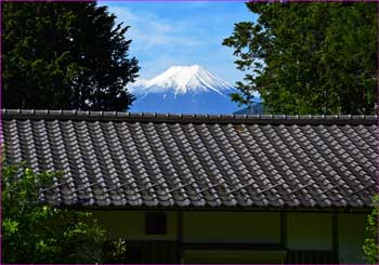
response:
[(273, 114), (374, 114), (376, 3), (247, 3), (257, 23), (223, 41), (246, 71), (232, 100), (260, 92)]

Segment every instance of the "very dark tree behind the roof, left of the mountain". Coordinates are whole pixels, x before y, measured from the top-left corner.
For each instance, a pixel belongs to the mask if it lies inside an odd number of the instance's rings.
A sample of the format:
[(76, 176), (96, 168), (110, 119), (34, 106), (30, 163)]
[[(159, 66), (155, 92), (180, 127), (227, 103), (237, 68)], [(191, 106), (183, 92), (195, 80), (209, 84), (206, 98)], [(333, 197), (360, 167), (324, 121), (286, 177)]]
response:
[(125, 110), (138, 77), (128, 27), (95, 2), (2, 3), (6, 108)]

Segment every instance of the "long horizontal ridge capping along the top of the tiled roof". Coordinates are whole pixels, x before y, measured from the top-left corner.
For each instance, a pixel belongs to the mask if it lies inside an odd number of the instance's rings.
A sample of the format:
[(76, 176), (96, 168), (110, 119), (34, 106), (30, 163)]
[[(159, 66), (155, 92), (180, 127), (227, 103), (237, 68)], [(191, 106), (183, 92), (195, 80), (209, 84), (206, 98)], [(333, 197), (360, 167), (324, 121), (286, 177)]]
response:
[(73, 119), (73, 120), (128, 120), (141, 122), (201, 122), (201, 123), (369, 123), (377, 115), (204, 115), (157, 114), (91, 110), (1, 109), (3, 118)]

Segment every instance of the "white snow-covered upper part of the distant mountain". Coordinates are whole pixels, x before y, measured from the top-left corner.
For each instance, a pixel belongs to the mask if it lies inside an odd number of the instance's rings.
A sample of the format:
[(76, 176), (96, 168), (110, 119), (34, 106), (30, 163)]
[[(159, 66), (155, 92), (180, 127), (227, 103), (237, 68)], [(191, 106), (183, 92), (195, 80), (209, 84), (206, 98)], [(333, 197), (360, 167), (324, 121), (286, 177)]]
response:
[(224, 95), (233, 87), (214, 77), (206, 68), (199, 65), (172, 66), (162, 74), (149, 80), (138, 80), (129, 88), (131, 93), (162, 93), (173, 91), (174, 94), (187, 92), (214, 91)]

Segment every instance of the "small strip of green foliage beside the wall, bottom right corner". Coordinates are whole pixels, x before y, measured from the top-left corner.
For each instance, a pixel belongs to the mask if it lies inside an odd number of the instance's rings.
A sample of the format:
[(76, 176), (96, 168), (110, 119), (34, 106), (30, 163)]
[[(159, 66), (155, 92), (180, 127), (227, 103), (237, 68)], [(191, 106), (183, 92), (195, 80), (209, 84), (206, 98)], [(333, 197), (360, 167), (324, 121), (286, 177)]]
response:
[(367, 216), (366, 230), (369, 237), (365, 239), (363, 251), (367, 263), (378, 264), (379, 247), (378, 247), (378, 216), (379, 216), (379, 196), (374, 198), (374, 210), (370, 215)]

